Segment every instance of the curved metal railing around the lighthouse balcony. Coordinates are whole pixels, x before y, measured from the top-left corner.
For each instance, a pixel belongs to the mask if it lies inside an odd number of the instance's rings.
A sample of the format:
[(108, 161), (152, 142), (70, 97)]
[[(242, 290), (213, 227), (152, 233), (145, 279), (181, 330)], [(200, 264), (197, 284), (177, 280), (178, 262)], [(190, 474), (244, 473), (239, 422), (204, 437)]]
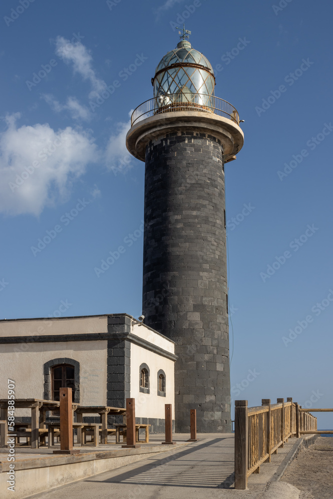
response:
[(175, 111), (202, 111), (223, 116), (239, 125), (239, 114), (226, 100), (214, 95), (176, 93), (159, 95), (140, 104), (132, 113), (131, 126), (160, 113)]

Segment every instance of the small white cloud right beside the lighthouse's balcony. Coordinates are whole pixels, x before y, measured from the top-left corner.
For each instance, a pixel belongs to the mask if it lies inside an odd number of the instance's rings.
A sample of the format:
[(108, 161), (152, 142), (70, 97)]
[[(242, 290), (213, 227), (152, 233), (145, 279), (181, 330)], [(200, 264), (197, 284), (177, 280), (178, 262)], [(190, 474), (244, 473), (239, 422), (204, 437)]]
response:
[[(132, 111), (129, 113), (132, 114)], [(105, 162), (109, 170), (116, 175), (125, 173), (132, 167), (133, 156), (126, 148), (126, 134), (131, 122), (117, 123), (117, 132), (111, 135), (105, 151)]]

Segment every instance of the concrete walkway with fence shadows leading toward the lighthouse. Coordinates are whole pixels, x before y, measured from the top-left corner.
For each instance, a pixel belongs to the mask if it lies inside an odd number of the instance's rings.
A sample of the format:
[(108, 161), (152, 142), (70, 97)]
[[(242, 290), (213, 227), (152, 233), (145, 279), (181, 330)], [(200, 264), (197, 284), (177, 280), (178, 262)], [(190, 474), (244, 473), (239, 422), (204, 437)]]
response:
[[(153, 436), (152, 436), (153, 437)], [(159, 436), (160, 438), (160, 436)], [(188, 435), (175, 435), (181, 441)], [(153, 439), (152, 439), (153, 440)], [(215, 499), (299, 497), (299, 491), (289, 484), (267, 482), (292, 449), (296, 439), (285, 444), (274, 455), (275, 463), (263, 465), (259, 475), (252, 475), (246, 491), (234, 489), (234, 435), (202, 434), (200, 440), (177, 450), (127, 465), (116, 470), (89, 477), (31, 498), (82, 499), (110, 497), (122, 499)], [(171, 447), (171, 446), (170, 446)], [(269, 467), (269, 468), (268, 468)], [(270, 471), (268, 472), (268, 469)], [(271, 495), (270, 493), (273, 492)], [(281, 493), (281, 496), (279, 495)]]

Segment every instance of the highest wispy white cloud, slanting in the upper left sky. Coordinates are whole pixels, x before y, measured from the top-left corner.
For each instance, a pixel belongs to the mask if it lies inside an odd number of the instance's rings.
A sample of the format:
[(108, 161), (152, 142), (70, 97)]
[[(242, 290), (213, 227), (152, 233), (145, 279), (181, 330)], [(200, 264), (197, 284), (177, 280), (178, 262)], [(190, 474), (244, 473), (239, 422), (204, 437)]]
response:
[(80, 42), (71, 43), (63, 36), (57, 36), (55, 42), (55, 53), (66, 64), (72, 64), (75, 73), (79, 73), (84, 80), (89, 80), (92, 91), (89, 98), (96, 97), (98, 93), (106, 88), (104, 80), (97, 78), (95, 70), (92, 68), (92, 57), (87, 48)]

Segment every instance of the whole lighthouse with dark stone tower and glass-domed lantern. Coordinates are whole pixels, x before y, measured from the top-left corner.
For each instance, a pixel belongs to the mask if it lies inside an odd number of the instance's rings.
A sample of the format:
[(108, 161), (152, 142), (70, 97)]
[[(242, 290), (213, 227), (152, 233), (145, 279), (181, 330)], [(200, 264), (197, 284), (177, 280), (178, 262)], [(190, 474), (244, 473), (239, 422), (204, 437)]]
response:
[(142, 307), (145, 324), (176, 343), (176, 432), (189, 431), (190, 409), (199, 432), (228, 432), (224, 165), (244, 135), (189, 33), (158, 64), (154, 97), (133, 112), (126, 145), (145, 162)]

